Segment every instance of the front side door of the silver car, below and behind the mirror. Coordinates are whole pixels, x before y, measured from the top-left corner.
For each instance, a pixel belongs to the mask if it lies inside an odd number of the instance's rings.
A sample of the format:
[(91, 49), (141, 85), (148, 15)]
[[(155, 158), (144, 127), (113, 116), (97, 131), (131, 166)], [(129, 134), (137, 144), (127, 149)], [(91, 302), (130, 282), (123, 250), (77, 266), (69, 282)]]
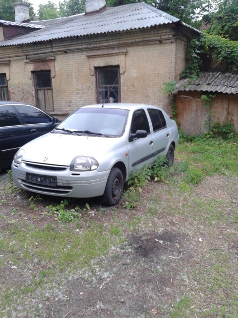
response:
[(129, 156), (129, 173), (140, 170), (145, 164), (152, 164), (154, 137), (150, 131), (150, 125), (144, 109), (135, 110), (131, 120), (130, 134), (143, 130), (147, 132), (145, 138), (137, 138), (127, 141)]

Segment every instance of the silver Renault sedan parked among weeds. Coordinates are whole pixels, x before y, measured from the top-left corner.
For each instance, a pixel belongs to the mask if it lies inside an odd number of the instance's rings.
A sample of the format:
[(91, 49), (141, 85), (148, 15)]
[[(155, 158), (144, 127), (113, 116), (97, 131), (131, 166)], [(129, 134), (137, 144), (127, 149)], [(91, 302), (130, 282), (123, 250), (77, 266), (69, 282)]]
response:
[(176, 122), (159, 107), (98, 104), (81, 107), (52, 132), (21, 147), (12, 176), (22, 189), (60, 197), (103, 196), (119, 202), (123, 183), (158, 156), (174, 162)]

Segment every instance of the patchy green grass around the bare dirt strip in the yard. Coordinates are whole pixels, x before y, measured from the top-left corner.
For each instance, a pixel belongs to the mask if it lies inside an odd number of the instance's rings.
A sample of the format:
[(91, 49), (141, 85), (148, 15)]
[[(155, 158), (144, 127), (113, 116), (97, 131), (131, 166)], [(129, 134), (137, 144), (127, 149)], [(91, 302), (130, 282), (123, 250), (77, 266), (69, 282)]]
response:
[[(88, 216), (89, 205), (80, 210), (68, 207), (65, 201), (48, 206), (41, 217), (52, 216), (51, 221), (40, 226), (26, 222), (25, 211), (17, 207), (9, 212), (12, 218), (1, 214), (4, 226), (0, 232), (0, 281), (5, 280), (1, 272), (7, 272), (12, 266), (17, 267), (22, 277), (19, 284), (9, 280), (4, 288), (2, 285), (0, 318), (17, 317), (17, 313), (41, 317), (39, 298), (47, 301), (56, 296), (59, 286), (74, 275), (93, 273), (95, 262), (99, 270), (100, 259), (108, 257), (112, 248), (121, 248), (130, 233), (158, 232), (173, 224), (172, 229), (179, 227), (185, 234), (197, 231), (194, 240), (202, 236), (200, 232), (208, 233), (214, 242), (221, 237), (229, 242), (237, 240), (238, 208), (230, 197), (214, 199), (210, 193), (196, 194), (207, 177), (229, 176), (231, 183), (224, 191), (231, 194), (233, 201), (237, 200), (237, 144), (236, 140), (206, 138), (180, 143), (174, 167), (167, 170), (156, 167), (162, 179), (157, 183), (160, 187), (151, 187), (151, 192), (143, 197), (149, 179), (153, 176), (155, 180), (155, 171), (145, 169), (136, 175), (134, 184), (131, 181), (133, 189), (138, 183), (140, 190), (127, 193), (124, 208), (96, 207), (97, 218)], [(13, 187), (9, 185), (8, 189), (11, 191)], [(7, 200), (2, 199), (2, 204), (7, 204)], [(38, 215), (39, 204), (39, 197), (31, 197), (28, 202), (34, 210), (33, 219)], [(235, 254), (226, 247), (230, 244), (226, 239), (225, 247), (218, 244), (216, 249), (204, 251), (203, 258), (199, 259), (198, 255), (197, 261), (187, 269), (189, 282), (177, 287), (182, 296), (169, 304), (158, 301), (157, 308), (166, 317), (237, 318), (238, 266)], [(166, 270), (161, 269), (164, 274)]]

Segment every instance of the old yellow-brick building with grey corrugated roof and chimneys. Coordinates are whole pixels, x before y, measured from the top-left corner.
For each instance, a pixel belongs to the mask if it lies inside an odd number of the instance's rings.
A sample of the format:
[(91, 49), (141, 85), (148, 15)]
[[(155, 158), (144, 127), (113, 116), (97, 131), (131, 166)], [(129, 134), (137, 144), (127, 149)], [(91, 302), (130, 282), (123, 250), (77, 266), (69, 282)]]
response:
[(110, 97), (171, 113), (163, 85), (179, 79), (198, 30), (143, 2), (86, 0), (85, 14), (45, 21), (29, 21), (27, 8), (15, 3), (16, 21), (0, 20), (1, 99), (59, 118)]

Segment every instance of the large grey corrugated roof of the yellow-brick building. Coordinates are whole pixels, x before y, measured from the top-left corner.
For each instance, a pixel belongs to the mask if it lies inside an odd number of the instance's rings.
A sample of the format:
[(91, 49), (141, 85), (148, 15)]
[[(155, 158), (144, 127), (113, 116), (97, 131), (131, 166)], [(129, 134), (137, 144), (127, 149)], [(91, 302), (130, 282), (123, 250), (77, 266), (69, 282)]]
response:
[(132, 29), (148, 28), (163, 24), (179, 23), (200, 32), (178, 18), (154, 8), (144, 2), (109, 7), (96, 14), (77, 14), (70, 17), (34, 21), (45, 28), (2, 41), (0, 46), (28, 44), (60, 38), (86, 36)]

